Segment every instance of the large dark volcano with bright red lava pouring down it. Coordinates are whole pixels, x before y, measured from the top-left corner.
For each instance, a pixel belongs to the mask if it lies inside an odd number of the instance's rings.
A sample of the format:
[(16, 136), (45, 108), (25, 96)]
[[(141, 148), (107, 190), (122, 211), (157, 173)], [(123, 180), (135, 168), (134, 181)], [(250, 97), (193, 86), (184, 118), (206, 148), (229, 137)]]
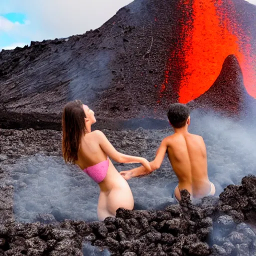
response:
[[(232, 69), (255, 96), (255, 13), (243, 0), (135, 0), (93, 31), (2, 50), (0, 127), (59, 130), (63, 105), (76, 98), (104, 127), (107, 120), (163, 116), (170, 103), (205, 91), (196, 105), (231, 113), (246, 97), (220, 102), (208, 90), (225, 80), (228, 94)], [(239, 65), (221, 71), (228, 55)]]

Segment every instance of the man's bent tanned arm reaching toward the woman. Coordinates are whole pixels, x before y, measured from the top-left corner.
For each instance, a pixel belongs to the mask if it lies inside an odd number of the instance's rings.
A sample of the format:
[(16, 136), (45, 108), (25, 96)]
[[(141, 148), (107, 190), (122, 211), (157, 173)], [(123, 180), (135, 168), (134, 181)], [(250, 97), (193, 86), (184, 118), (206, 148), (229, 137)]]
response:
[(141, 175), (147, 175), (151, 173), (152, 171), (158, 169), (161, 166), (161, 163), (163, 161), (163, 158), (165, 156), (166, 150), (167, 150), (167, 138), (164, 138), (161, 141), (160, 146), (158, 147), (156, 153), (155, 153), (155, 158), (153, 161), (150, 161), (150, 167), (151, 170), (146, 170), (144, 166), (140, 166), (131, 170), (126, 170), (126, 171), (120, 171), (120, 174), (125, 178), (125, 179), (130, 179), (132, 177), (136, 176), (141, 176)]

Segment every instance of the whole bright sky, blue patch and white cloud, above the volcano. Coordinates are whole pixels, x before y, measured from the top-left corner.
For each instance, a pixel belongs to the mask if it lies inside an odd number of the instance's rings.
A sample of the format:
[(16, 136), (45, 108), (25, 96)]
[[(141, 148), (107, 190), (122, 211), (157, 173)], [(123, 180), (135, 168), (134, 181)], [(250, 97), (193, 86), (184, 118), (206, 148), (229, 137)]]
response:
[[(81, 34), (132, 0), (0, 0), (0, 49)], [(256, 4), (256, 0), (248, 0)]]

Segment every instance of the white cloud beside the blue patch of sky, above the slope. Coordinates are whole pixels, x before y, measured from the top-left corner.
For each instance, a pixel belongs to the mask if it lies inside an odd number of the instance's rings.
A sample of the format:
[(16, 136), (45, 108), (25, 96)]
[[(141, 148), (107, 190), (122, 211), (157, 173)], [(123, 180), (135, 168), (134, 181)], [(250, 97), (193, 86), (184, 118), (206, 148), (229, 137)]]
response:
[[(67, 37), (101, 26), (132, 0), (8, 0), (1, 8), (25, 13), (37, 28), (31, 40)], [(23, 31), (24, 29), (22, 29)], [(39, 36), (38, 36), (39, 34)]]

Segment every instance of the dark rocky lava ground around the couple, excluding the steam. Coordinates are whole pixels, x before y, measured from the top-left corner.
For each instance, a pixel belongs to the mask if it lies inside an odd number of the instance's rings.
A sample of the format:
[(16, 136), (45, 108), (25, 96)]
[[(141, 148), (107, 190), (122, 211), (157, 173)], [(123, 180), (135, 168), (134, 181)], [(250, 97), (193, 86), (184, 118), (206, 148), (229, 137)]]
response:
[[(139, 154), (147, 147), (145, 137), (149, 137), (152, 131), (104, 132), (118, 150), (121, 147), (130, 148), (131, 152)], [(157, 134), (161, 132), (159, 130)], [(123, 140), (117, 139), (118, 133), (120, 137), (126, 134), (126, 140), (125, 137)], [(161, 136), (158, 139), (155, 137), (152, 147), (157, 146)], [(139, 146), (131, 142), (134, 137), (137, 137)], [(11, 178), (11, 166), (24, 155), (40, 153), (61, 156), (61, 133), (54, 130), (1, 129), (0, 138), (3, 141), (0, 154), (0, 255), (111, 253), (174, 256), (255, 253), (255, 176), (244, 177), (241, 185), (228, 185), (219, 198), (205, 197), (193, 204), (188, 199), (189, 195), (183, 191), (180, 205), (170, 202), (167, 207), (158, 210), (118, 209), (116, 218), (109, 217), (103, 222), (57, 221), (52, 214), (41, 213), (34, 222), (22, 223), (16, 220), (13, 210), (16, 183)], [(136, 150), (138, 147), (140, 151)], [(83, 252), (84, 244), (88, 243), (98, 250), (87, 247)]]

